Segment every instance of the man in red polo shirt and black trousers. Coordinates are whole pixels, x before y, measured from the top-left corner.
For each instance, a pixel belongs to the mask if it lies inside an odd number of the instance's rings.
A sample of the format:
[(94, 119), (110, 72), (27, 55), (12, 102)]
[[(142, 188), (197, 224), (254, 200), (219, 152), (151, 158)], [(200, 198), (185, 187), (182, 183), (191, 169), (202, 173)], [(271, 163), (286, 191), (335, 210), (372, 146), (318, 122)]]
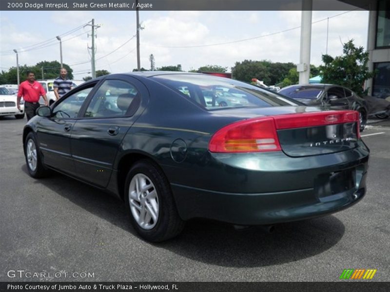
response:
[(27, 80), (19, 85), (17, 105), (20, 109), (20, 98), (24, 99), (24, 112), (27, 116), (27, 122), (36, 115), (36, 110), (39, 108), (39, 96), (42, 95), (45, 105), (47, 106), (46, 92), (39, 82), (35, 81), (33, 72), (27, 72)]

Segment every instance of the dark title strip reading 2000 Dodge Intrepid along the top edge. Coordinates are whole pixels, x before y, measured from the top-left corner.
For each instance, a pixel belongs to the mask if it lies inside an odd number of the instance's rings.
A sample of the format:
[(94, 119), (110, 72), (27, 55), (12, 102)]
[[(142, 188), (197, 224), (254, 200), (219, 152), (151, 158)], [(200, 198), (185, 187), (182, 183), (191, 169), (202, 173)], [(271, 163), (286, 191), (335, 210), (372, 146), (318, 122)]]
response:
[(3, 11), (266, 11), (374, 9), (375, 0), (1, 0)]

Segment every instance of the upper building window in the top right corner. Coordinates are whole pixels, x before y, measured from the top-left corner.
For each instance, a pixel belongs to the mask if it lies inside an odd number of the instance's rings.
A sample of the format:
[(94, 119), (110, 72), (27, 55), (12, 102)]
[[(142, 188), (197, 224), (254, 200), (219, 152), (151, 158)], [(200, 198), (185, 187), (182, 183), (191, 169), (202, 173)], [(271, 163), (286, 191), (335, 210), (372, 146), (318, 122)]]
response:
[(390, 47), (390, 1), (378, 1), (376, 47)]

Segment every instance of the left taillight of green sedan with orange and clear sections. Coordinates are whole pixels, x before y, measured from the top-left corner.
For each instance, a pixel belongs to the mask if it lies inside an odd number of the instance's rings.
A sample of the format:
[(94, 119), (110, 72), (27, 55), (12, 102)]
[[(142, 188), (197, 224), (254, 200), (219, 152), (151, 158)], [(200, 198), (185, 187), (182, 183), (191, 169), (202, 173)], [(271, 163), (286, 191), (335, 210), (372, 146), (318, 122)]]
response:
[(211, 152), (264, 152), (281, 150), (272, 117), (248, 119), (218, 130), (209, 143)]

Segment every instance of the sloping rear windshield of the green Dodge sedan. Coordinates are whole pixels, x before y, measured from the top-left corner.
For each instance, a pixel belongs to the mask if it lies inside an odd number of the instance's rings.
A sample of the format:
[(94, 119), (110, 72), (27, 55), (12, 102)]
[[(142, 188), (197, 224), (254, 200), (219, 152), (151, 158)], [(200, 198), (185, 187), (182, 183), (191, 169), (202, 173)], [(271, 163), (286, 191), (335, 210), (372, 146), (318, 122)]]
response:
[(292, 100), (276, 93), (223, 77), (202, 74), (167, 74), (151, 78), (206, 110), (297, 105)]

